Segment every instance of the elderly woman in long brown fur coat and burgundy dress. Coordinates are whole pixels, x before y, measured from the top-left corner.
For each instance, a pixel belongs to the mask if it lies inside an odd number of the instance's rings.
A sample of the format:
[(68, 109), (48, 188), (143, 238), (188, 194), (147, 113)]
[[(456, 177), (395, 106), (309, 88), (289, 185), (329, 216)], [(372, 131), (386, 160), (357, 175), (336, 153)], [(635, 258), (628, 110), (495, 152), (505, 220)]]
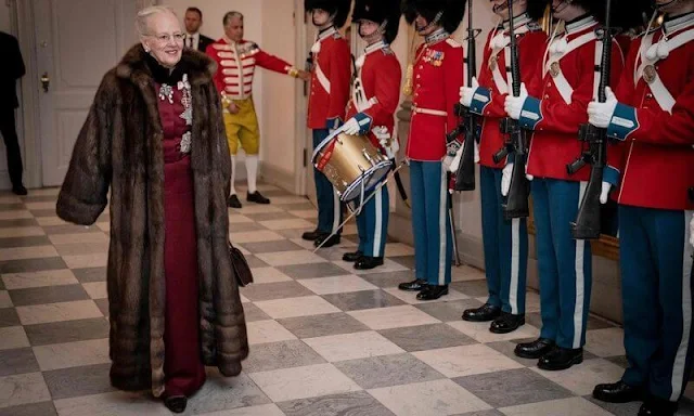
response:
[(183, 50), (175, 13), (138, 13), (141, 44), (97, 91), (57, 214), (92, 224), (111, 187), (111, 382), (150, 388), (181, 413), (205, 382), (248, 354), (229, 249), (229, 150), (215, 64)]

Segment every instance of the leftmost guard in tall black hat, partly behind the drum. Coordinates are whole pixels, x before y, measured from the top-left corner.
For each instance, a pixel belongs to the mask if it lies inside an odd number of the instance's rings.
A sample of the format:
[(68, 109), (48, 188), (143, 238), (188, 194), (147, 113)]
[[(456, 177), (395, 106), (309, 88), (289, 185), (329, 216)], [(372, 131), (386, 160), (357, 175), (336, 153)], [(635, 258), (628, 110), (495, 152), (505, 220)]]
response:
[[(304, 5), (319, 29), (309, 55), (311, 94), (308, 100), (308, 128), (313, 130), (316, 148), (345, 121), (351, 81), (351, 54), (349, 43), (339, 28), (347, 22), (351, 0), (305, 0)], [(316, 168), (313, 179), (318, 226), (304, 233), (301, 238), (312, 240), (317, 247), (332, 247), (339, 243), (342, 234), (339, 196), (327, 178)]]

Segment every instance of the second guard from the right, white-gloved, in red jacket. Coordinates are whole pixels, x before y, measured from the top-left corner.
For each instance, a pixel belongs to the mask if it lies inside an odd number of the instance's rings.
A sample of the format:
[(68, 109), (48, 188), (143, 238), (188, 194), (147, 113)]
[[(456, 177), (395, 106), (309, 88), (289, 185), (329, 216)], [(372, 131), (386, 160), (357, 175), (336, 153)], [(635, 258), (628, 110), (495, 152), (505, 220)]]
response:
[[(616, 10), (617, 8), (613, 8)], [(553, 0), (553, 17), (565, 31), (552, 36), (528, 89), (506, 96), (506, 114), (532, 130), (527, 161), (537, 230), (542, 329), (539, 339), (519, 343), (515, 354), (539, 359), (542, 369), (566, 369), (583, 361), (591, 294), (591, 250), (574, 239), (576, 221), (590, 169), (569, 174), (567, 165), (582, 154), (579, 127), (588, 122), (588, 103), (596, 96), (602, 63), (600, 20), (603, 0)], [(613, 42), (612, 74), (622, 68)], [(612, 84), (618, 79), (613, 77)], [(529, 95), (529, 94), (530, 95)], [(507, 166), (507, 165), (506, 165)]]

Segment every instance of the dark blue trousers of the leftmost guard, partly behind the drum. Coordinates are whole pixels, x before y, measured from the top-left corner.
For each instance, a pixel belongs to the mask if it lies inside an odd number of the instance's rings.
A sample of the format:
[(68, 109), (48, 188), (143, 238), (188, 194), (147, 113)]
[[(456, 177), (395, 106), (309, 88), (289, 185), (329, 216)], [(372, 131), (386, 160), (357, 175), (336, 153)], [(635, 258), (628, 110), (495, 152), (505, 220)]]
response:
[[(327, 129), (313, 130), (313, 148), (318, 147), (330, 135)], [(343, 222), (343, 210), (339, 196), (327, 178), (313, 167), (316, 181), (316, 198), (318, 199), (318, 231), (323, 233), (342, 233), (337, 226)]]

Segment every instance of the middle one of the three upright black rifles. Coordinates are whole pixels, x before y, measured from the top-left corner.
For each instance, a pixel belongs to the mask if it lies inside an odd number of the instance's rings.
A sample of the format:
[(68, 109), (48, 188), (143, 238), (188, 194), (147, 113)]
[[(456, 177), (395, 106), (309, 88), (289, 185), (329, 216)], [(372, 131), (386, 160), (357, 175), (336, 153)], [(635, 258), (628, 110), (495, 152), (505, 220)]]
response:
[[(511, 77), (513, 95), (520, 95), (520, 67), (518, 65), (518, 40), (516, 39), (513, 0), (509, 1), (509, 36), (511, 37)], [(514, 154), (513, 173), (506, 204), (503, 204), (503, 216), (506, 220), (514, 218), (527, 218), (530, 216), (528, 196), (530, 195), (530, 182), (525, 176), (528, 162), (528, 139), (526, 131), (520, 128), (517, 120), (510, 117), (501, 120), (501, 132), (507, 134), (505, 145), (493, 155), (494, 164), (499, 164), (509, 154)]]

